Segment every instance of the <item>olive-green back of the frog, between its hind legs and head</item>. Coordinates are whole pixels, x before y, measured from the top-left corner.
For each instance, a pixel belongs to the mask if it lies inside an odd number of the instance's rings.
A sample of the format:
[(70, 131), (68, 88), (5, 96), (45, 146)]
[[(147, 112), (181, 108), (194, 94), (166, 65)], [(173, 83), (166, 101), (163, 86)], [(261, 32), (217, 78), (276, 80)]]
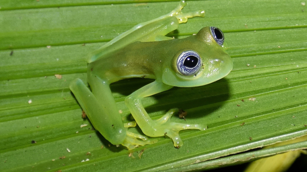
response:
[(154, 69), (159, 67), (157, 53), (158, 42), (134, 42), (117, 51), (106, 54), (89, 63), (88, 70), (115, 82), (131, 77), (155, 78)]

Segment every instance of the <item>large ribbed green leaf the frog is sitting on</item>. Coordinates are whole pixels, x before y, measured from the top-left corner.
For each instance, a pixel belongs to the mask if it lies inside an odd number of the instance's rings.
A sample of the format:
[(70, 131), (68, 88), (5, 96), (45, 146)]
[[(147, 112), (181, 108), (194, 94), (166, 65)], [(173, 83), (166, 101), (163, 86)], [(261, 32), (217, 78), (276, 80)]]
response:
[[(307, 9), (298, 0), (188, 1), (185, 12), (204, 9), (206, 16), (189, 19), (171, 36), (220, 28), (234, 69), (212, 84), (143, 99), (153, 119), (179, 107), (188, 112), (186, 121), (172, 121), (208, 125), (205, 131), (181, 132), (180, 149), (160, 137), (156, 144), (128, 151), (111, 145), (81, 118), (68, 85), (77, 77), (86, 82), (86, 54), (177, 4), (2, 0), (0, 171), (199, 170), (306, 148), (305, 141), (232, 155), (307, 134)], [(131, 115), (123, 100), (149, 82), (130, 79), (111, 85), (124, 121)], [(130, 131), (142, 133), (139, 128)]]

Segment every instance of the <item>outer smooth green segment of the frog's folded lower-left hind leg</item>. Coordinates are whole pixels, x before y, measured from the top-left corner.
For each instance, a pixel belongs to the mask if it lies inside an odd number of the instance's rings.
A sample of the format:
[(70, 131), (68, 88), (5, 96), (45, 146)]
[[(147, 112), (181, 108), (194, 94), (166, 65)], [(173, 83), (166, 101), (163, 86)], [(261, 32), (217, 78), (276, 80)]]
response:
[[(92, 82), (91, 85), (93, 84), (96, 84), (94, 88), (97, 88), (101, 83)], [(72, 81), (69, 87), (95, 129), (112, 144), (122, 144), (126, 137), (126, 129), (116, 109), (113, 97), (112, 99), (105, 99), (105, 102), (101, 103), (101, 100), (98, 101), (97, 95), (95, 97), (80, 79)], [(110, 97), (108, 95), (111, 94), (110, 88), (102, 87), (100, 91), (107, 98)]]

